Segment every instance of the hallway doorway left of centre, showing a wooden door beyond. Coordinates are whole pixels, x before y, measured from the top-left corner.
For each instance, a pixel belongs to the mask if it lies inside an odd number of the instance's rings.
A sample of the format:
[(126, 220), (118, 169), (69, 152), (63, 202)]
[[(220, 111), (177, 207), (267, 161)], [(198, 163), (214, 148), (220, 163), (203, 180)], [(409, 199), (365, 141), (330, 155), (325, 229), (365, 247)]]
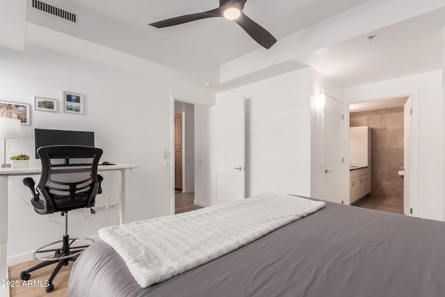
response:
[(208, 104), (175, 95), (170, 111), (172, 154), (166, 150), (164, 158), (171, 159), (171, 214), (179, 214), (207, 206), (201, 201), (209, 196), (210, 112)]

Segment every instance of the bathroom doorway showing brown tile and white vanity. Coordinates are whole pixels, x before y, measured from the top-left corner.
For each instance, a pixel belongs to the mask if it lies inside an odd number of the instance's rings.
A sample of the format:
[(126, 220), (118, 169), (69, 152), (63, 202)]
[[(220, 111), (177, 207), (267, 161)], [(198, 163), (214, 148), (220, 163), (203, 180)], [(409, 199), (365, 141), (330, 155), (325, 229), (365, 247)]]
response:
[[(356, 207), (410, 214), (410, 172), (412, 160), (412, 97), (379, 99), (349, 106), (349, 127), (368, 127), (371, 135), (370, 161), (366, 178), (371, 179), (368, 191), (353, 197), (359, 186), (357, 169), (350, 159), (350, 201)], [(366, 130), (366, 129), (365, 129)], [(356, 132), (355, 132), (356, 133)], [(353, 134), (349, 134), (349, 141)], [(355, 150), (357, 145), (354, 145)], [(350, 152), (350, 154), (356, 152)], [(351, 163), (352, 162), (352, 163)], [(362, 180), (363, 182), (363, 180)]]

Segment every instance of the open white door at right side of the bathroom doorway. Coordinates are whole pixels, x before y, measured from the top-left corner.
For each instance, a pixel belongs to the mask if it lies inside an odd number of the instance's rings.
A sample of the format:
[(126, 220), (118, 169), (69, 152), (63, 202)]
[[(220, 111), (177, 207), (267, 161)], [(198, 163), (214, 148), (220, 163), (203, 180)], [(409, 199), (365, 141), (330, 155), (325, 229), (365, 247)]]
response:
[(412, 181), (412, 96), (408, 97), (403, 106), (403, 213), (411, 216), (412, 203), (411, 181)]

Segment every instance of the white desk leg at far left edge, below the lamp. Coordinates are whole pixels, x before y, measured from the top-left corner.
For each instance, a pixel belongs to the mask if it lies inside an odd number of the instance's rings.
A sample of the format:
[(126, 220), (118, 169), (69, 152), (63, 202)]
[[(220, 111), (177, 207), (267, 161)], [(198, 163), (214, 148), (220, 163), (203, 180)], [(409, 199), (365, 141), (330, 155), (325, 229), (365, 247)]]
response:
[[(0, 282), (8, 280), (6, 243), (8, 242), (8, 177), (0, 176)], [(9, 296), (9, 287), (0, 286), (0, 296)]]

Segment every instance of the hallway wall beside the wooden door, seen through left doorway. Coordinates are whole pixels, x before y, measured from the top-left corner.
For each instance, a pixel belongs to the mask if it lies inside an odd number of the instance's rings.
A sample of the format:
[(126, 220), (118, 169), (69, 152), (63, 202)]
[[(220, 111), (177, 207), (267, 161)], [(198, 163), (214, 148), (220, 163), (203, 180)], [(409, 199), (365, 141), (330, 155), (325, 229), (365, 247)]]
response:
[(175, 113), (182, 113), (182, 192), (195, 190), (195, 108), (193, 104), (175, 101)]

